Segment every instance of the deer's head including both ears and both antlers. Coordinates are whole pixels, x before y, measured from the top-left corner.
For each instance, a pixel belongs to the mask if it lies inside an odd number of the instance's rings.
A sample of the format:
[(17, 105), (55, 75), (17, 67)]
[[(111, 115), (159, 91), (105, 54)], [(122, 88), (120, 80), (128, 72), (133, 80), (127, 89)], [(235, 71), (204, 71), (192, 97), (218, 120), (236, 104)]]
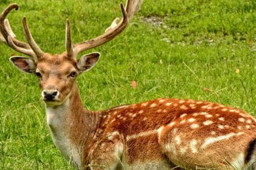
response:
[(59, 105), (71, 94), (76, 77), (90, 70), (99, 60), (100, 53), (94, 52), (83, 55), (77, 60), (77, 55), (85, 50), (100, 46), (123, 32), (129, 19), (137, 12), (141, 1), (127, 1), (126, 7), (121, 4), (123, 18), (116, 18), (102, 35), (88, 41), (72, 43), (69, 20), (66, 20), (66, 51), (62, 54), (51, 55), (43, 52), (32, 38), (26, 17), (23, 17), (23, 28), (27, 42), (19, 41), (12, 32), (8, 19), (5, 19), (13, 9), (18, 10), (17, 4), (11, 4), (0, 15), (0, 40), (17, 52), (29, 55), (12, 56), (10, 61), (20, 70), (37, 75), (41, 96), (46, 104)]

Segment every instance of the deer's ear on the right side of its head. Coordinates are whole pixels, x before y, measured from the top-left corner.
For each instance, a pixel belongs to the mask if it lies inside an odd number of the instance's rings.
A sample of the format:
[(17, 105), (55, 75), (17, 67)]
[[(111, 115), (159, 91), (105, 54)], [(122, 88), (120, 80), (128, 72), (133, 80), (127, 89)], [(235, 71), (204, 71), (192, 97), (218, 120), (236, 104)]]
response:
[(98, 52), (89, 53), (81, 56), (81, 58), (79, 59), (79, 61), (77, 61), (76, 64), (79, 72), (86, 72), (90, 70), (99, 60), (99, 56), (101, 56), (101, 54)]

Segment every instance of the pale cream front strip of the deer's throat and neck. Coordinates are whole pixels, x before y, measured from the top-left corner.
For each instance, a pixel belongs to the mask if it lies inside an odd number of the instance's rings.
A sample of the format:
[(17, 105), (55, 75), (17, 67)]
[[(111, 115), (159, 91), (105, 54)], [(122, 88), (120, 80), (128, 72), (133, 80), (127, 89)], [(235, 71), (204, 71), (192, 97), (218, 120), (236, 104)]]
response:
[(74, 146), (69, 139), (69, 99), (60, 106), (46, 106), (46, 121), (55, 146), (62, 152), (62, 155), (71, 161), (76, 168), (82, 166), (79, 148)]

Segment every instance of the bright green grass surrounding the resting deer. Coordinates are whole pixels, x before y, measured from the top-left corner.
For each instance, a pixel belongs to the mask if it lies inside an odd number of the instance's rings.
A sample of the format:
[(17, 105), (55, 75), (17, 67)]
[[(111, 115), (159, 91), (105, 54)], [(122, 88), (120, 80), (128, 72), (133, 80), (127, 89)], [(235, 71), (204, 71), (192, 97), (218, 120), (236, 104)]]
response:
[[(1, 1), (0, 11), (11, 2)], [(100, 35), (121, 15), (119, 2), (16, 0), (20, 9), (8, 19), (25, 41), (26, 15), (41, 49), (62, 53), (66, 18), (73, 42), (80, 42)], [(88, 51), (102, 57), (77, 78), (84, 106), (101, 110), (158, 97), (193, 98), (255, 116), (255, 9), (253, 0), (145, 0), (121, 35)], [(13, 53), (0, 44), (0, 168), (72, 169), (52, 143), (37, 78), (9, 63)]]

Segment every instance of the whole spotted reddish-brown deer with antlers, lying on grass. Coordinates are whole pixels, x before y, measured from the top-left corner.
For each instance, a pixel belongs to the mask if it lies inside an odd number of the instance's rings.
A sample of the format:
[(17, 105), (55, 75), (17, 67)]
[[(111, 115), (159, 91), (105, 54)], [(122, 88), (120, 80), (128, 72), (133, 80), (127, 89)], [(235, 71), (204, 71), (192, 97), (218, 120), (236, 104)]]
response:
[(66, 51), (43, 52), (32, 38), (26, 17), (27, 42), (16, 39), (6, 16), (0, 15), (0, 39), (17, 52), (10, 62), (38, 77), (52, 141), (76, 169), (256, 169), (256, 118), (235, 107), (209, 101), (158, 98), (105, 110), (87, 110), (76, 78), (90, 70), (100, 53), (79, 53), (100, 46), (127, 27), (140, 0), (121, 4), (102, 35), (72, 43), (66, 20)]

